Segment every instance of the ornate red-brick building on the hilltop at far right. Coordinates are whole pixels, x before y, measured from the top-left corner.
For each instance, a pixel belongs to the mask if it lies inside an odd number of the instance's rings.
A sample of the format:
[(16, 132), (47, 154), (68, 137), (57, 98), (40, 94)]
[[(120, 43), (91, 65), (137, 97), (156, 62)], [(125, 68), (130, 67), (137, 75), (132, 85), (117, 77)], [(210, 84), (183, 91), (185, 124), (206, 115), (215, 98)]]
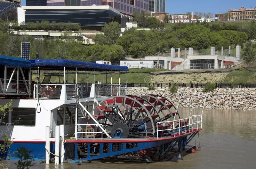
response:
[(236, 20), (256, 20), (256, 7), (246, 9), (241, 7), (240, 9), (229, 9), (228, 10), (228, 21)]

